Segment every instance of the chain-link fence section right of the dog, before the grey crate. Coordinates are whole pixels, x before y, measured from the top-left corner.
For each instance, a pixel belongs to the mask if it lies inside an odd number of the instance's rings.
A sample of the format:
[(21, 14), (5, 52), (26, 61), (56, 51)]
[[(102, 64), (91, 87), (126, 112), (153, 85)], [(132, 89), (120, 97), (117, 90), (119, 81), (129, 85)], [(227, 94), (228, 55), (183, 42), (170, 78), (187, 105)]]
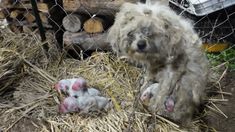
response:
[(192, 20), (213, 66), (226, 63), (235, 69), (234, 1), (170, 0), (170, 7)]

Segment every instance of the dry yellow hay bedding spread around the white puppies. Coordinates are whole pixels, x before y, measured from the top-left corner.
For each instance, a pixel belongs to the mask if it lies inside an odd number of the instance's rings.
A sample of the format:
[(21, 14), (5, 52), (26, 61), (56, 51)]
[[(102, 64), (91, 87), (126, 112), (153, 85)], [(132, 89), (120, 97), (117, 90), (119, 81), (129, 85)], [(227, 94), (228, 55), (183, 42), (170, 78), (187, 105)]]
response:
[[(47, 56), (39, 37), (33, 33), (14, 34), (6, 29), (0, 34), (0, 129), (52, 132), (184, 131), (160, 116), (153, 120), (150, 114), (138, 111), (135, 97), (141, 78), (139, 68), (110, 53), (95, 53), (86, 60), (65, 58), (52, 40), (48, 41), (50, 49)], [(52, 89), (53, 85), (60, 79), (78, 76), (86, 78), (90, 86), (111, 97), (114, 108), (95, 117), (83, 117), (76, 113), (58, 114), (59, 98)], [(200, 116), (205, 114), (206, 111)], [(199, 131), (199, 128), (213, 131), (200, 117), (192, 122), (189, 129)]]

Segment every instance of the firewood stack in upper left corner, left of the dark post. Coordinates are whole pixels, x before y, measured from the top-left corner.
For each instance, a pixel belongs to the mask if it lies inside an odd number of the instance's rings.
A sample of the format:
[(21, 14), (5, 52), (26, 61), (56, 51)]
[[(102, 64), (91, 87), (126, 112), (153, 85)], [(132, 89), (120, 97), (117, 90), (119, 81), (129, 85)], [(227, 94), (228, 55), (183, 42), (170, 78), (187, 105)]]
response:
[[(30, 0), (2, 0), (0, 2), (0, 18), (7, 19), (9, 27), (13, 31), (32, 31), (37, 28)], [(51, 28), (48, 23), (47, 4), (43, 0), (37, 0), (37, 6), (43, 26)]]

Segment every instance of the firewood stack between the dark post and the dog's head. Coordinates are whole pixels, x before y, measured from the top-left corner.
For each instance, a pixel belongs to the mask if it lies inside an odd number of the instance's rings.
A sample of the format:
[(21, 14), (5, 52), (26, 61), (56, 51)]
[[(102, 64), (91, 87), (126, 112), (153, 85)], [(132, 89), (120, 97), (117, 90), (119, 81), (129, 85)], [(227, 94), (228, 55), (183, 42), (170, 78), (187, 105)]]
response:
[(66, 47), (82, 50), (109, 50), (107, 30), (113, 24), (115, 13), (124, 2), (138, 0), (63, 0), (68, 15), (63, 19)]

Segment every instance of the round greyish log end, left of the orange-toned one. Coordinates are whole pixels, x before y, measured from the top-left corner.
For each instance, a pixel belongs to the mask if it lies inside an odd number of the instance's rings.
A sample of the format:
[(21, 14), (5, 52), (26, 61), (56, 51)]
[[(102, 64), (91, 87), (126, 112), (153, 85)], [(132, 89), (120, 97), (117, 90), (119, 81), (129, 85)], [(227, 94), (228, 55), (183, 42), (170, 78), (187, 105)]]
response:
[(85, 16), (70, 14), (63, 18), (62, 24), (65, 30), (75, 33), (81, 30), (85, 20), (87, 20), (87, 17)]

